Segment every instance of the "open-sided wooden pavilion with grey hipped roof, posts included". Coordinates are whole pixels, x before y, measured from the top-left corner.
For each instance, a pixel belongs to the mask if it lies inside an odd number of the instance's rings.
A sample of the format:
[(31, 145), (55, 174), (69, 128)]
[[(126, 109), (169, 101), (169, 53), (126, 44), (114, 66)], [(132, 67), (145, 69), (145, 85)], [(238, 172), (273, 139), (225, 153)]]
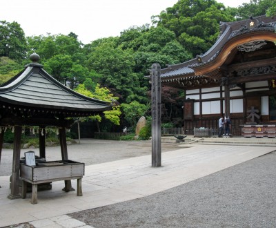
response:
[(39, 55), (34, 53), (30, 59), (32, 63), (0, 87), (0, 160), (3, 135), (7, 128), (14, 131), (10, 199), (21, 197), (19, 168), (23, 129), (39, 127), (39, 157), (46, 158), (46, 127), (56, 127), (61, 158), (68, 160), (66, 129), (72, 125), (72, 117), (86, 117), (111, 108), (108, 102), (83, 96), (59, 83), (43, 70), (38, 63)]

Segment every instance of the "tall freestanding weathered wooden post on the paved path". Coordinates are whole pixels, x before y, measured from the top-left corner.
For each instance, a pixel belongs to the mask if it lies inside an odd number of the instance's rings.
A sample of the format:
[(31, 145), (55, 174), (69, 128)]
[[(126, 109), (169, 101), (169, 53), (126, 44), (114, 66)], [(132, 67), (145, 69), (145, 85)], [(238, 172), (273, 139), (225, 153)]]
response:
[(151, 74), (151, 135), (152, 167), (161, 167), (161, 67), (152, 64)]

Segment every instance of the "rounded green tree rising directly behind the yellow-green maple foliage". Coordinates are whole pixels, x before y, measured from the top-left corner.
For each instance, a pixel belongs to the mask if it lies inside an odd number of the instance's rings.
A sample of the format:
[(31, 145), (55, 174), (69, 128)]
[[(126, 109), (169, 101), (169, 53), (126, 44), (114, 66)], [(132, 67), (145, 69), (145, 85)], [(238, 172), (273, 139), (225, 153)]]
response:
[(132, 97), (143, 101), (146, 97), (146, 88), (140, 83), (144, 75), (134, 73), (134, 67), (132, 50), (122, 50), (112, 39), (93, 47), (88, 55), (88, 68), (103, 75), (100, 84), (119, 97), (120, 102), (131, 102)]

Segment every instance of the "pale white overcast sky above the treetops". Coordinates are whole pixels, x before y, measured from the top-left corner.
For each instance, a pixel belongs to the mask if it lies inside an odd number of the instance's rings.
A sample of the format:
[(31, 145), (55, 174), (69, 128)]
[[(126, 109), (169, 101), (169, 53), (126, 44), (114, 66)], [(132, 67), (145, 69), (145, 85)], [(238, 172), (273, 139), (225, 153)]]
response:
[[(217, 2), (237, 7), (250, 0)], [(79, 41), (89, 44), (150, 23), (152, 15), (175, 3), (177, 0), (0, 0), (0, 21), (16, 21), (26, 37), (74, 32)]]

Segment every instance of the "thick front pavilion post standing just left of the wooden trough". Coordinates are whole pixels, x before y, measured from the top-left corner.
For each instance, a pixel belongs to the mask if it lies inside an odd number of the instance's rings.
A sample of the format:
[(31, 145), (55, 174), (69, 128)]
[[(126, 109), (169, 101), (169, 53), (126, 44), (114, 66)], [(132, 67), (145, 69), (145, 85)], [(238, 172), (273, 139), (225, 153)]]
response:
[(20, 149), (21, 149), (22, 126), (14, 126), (14, 146), (12, 159), (12, 178), (10, 184), (10, 200), (21, 198), (19, 194), (19, 169), (20, 169)]

